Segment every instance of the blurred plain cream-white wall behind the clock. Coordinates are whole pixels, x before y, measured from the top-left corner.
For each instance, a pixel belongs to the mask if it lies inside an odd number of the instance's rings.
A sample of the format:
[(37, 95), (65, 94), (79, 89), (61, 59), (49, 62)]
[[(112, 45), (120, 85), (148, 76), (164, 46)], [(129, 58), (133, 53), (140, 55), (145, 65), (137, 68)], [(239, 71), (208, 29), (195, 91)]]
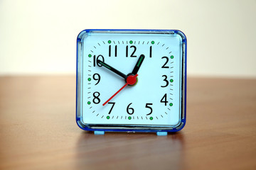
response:
[(188, 75), (256, 77), (256, 1), (0, 1), (0, 74), (75, 74), (89, 28), (178, 29)]

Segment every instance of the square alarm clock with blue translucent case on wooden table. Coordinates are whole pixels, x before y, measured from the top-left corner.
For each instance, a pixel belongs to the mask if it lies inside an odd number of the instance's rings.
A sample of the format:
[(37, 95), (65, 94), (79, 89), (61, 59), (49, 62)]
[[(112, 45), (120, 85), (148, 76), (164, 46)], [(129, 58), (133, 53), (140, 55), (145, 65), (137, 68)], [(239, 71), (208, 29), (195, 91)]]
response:
[(96, 135), (181, 130), (186, 43), (180, 30), (82, 30), (77, 38), (78, 126)]

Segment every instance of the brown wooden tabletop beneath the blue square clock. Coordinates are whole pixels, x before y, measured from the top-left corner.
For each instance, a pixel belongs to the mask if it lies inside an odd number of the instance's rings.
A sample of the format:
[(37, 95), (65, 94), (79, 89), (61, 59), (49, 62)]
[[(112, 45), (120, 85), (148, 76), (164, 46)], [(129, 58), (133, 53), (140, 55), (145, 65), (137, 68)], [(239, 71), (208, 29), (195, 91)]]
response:
[(181, 132), (94, 135), (75, 76), (0, 78), (0, 169), (256, 169), (256, 80), (188, 79)]

